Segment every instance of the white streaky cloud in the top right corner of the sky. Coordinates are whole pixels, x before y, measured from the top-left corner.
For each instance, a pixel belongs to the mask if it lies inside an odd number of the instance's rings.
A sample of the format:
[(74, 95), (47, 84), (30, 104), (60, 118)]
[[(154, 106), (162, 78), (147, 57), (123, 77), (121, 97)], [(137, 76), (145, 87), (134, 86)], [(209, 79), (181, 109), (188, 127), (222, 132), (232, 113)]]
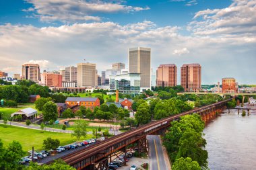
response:
[(188, 30), (197, 35), (245, 35), (255, 38), (256, 0), (234, 0), (224, 9), (198, 11)]

